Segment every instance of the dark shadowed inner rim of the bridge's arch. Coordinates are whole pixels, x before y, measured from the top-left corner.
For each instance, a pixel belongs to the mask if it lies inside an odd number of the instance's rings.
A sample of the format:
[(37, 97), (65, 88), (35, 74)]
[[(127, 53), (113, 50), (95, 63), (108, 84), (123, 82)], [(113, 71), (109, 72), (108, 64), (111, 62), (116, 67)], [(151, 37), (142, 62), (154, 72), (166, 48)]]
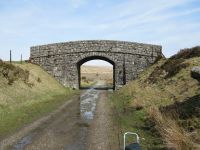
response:
[(88, 56), (88, 57), (81, 59), (77, 63), (79, 89), (81, 89), (81, 65), (87, 61), (95, 60), (95, 59), (104, 60), (104, 61), (107, 61), (108, 63), (112, 64), (112, 66), (113, 66), (113, 88), (112, 89), (115, 90), (115, 63), (114, 63), (114, 61), (112, 61), (109, 58), (104, 57), (104, 56)]

